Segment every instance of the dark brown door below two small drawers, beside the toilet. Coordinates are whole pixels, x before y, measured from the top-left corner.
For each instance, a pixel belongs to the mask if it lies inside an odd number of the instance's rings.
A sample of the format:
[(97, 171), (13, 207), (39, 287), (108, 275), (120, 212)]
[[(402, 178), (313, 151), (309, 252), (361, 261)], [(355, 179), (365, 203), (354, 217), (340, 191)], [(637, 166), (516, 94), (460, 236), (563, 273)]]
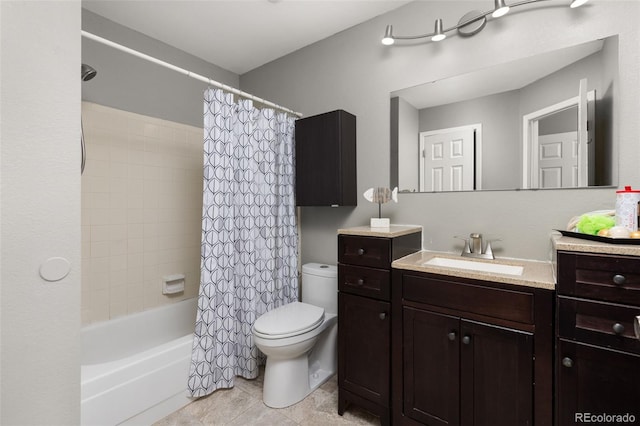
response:
[(389, 406), (390, 304), (340, 293), (338, 384), (367, 400)]

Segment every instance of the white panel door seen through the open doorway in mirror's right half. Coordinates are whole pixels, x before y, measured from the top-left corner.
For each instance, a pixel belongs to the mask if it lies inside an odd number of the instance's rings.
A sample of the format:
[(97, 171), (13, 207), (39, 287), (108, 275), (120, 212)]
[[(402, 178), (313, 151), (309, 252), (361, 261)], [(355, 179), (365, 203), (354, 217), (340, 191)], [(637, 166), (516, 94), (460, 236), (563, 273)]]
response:
[(578, 187), (578, 132), (538, 137), (538, 188)]

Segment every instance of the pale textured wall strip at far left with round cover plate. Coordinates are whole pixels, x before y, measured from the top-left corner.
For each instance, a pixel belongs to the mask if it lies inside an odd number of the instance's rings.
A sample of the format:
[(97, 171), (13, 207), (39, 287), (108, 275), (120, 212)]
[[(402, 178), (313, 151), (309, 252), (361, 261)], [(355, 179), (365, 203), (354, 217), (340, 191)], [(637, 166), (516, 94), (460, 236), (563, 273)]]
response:
[[(80, 2), (0, 2), (0, 424), (80, 424)], [(47, 259), (69, 274), (48, 282)]]

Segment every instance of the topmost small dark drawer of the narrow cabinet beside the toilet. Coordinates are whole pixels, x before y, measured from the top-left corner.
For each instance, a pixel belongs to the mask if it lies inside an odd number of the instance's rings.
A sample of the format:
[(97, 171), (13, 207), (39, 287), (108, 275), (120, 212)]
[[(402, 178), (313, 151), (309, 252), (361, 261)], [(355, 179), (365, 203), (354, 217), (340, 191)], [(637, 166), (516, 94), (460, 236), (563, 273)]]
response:
[(391, 241), (388, 238), (338, 235), (340, 263), (388, 268), (391, 260)]

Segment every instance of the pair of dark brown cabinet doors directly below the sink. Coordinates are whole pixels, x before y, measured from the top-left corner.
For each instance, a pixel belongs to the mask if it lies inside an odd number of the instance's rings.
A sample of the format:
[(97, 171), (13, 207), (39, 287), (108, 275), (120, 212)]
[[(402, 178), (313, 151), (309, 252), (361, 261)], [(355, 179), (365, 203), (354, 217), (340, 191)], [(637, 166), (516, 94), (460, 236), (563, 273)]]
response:
[(429, 426), (533, 425), (533, 335), (405, 307), (404, 413)]

